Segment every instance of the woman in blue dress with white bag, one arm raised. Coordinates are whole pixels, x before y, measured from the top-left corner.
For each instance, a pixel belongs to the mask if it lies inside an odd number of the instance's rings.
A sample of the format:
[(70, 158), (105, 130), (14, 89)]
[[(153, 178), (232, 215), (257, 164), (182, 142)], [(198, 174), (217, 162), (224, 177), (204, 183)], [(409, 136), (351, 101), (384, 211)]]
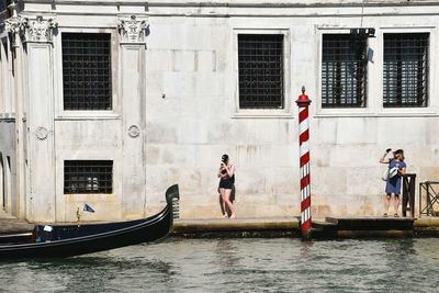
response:
[(393, 153), (393, 158), (385, 158), (392, 149), (386, 149), (386, 153), (381, 157), (381, 164), (389, 164), (389, 170), (385, 181), (385, 212), (387, 216), (389, 207), (391, 206), (392, 193), (394, 194), (394, 216), (398, 216), (399, 194), (401, 194), (401, 176), (405, 174), (404, 150), (397, 149)]

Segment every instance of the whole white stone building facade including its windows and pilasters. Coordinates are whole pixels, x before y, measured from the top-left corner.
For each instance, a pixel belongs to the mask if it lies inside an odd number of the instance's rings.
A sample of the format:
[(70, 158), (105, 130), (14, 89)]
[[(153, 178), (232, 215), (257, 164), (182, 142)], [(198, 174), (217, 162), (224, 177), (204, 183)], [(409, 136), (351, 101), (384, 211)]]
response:
[(382, 153), (439, 178), (439, 1), (16, 0), (0, 4), (0, 203), (36, 222), (300, 214), (311, 105), (313, 212), (382, 213)]

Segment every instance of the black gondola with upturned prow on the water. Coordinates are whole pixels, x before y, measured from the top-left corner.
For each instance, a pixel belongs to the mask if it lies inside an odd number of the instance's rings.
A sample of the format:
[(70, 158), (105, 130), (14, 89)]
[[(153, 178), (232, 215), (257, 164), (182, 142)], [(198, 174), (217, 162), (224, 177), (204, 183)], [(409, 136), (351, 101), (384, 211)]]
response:
[(36, 225), (29, 241), (0, 244), (0, 260), (71, 257), (165, 238), (173, 223), (175, 184), (166, 191), (166, 207), (158, 214), (128, 222), (76, 225)]

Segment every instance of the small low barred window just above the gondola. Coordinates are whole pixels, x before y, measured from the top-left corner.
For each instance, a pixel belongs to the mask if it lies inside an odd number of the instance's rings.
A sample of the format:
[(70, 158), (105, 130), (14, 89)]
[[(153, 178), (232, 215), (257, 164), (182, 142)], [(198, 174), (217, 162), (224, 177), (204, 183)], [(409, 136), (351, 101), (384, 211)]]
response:
[(64, 193), (112, 193), (112, 160), (65, 160)]

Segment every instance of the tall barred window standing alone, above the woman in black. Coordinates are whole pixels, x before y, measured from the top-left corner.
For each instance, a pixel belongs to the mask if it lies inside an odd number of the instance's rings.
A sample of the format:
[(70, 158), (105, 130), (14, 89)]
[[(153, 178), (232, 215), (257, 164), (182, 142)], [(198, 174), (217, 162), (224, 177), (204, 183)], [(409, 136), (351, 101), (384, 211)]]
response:
[(239, 108), (283, 109), (283, 35), (239, 34)]

